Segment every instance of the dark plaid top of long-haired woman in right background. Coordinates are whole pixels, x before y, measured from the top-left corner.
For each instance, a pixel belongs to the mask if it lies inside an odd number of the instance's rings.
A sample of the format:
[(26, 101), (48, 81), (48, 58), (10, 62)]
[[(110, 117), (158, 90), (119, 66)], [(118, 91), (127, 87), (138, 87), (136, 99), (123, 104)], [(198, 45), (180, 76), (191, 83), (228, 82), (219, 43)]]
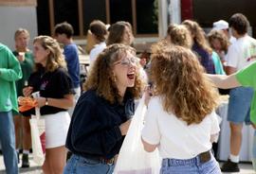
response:
[(192, 50), (196, 53), (198, 60), (205, 67), (206, 72), (208, 74), (215, 74), (214, 63), (211, 59), (211, 55), (196, 43), (193, 43)]

